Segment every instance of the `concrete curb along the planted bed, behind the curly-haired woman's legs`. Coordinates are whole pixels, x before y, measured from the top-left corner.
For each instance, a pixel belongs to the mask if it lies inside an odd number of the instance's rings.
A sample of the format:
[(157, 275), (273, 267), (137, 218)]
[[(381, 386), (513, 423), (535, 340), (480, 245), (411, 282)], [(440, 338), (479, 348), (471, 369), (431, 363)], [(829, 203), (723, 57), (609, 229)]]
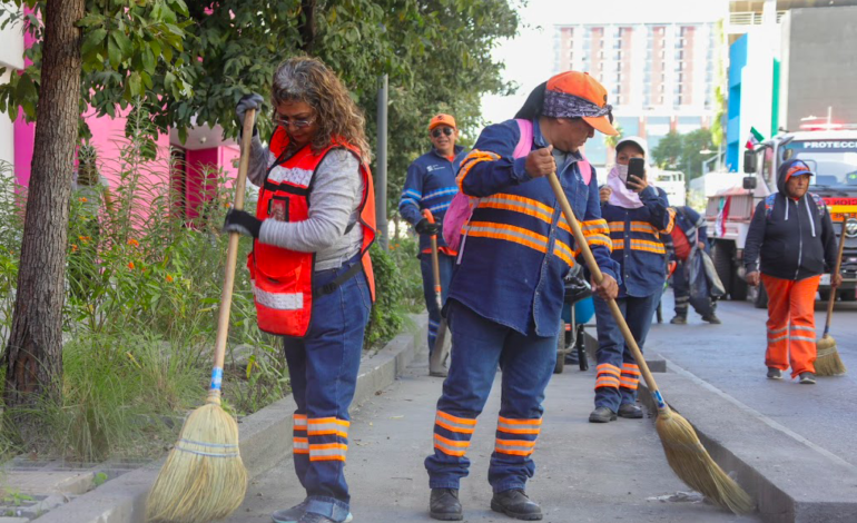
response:
[[(383, 349), (361, 363), (353, 405), (392, 384), (425, 345), (426, 315), (411, 315), (412, 325)], [(240, 450), (250, 480), (292, 453), (292, 396), (239, 422)], [(144, 523), (146, 496), (162, 460), (125, 474), (39, 517), (39, 523)]]

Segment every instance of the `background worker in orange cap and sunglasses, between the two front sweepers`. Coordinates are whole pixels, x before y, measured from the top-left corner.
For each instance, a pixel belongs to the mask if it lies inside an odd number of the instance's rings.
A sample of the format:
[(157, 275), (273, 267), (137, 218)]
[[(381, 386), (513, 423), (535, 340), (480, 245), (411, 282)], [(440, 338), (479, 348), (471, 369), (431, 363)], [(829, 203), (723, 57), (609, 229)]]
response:
[[(423, 293), (425, 308), (428, 310), (428, 355), (434, 351), (434, 341), (441, 325), (441, 309), (434, 295), (434, 274), (432, 272), (431, 237), (436, 235), (439, 263), (441, 269), (441, 290), (443, 299), (450, 288), (455, 251), (443, 240), (442, 224), (452, 197), (459, 191), (455, 172), (463, 155), (463, 148), (455, 145), (459, 129), (450, 115), (436, 115), (428, 122), (428, 136), (432, 150), (421, 156), (407, 168), (407, 178), (398, 200), (398, 213), (420, 235), (420, 268), (423, 273)], [(434, 217), (431, 224), (424, 216), (428, 209)]]

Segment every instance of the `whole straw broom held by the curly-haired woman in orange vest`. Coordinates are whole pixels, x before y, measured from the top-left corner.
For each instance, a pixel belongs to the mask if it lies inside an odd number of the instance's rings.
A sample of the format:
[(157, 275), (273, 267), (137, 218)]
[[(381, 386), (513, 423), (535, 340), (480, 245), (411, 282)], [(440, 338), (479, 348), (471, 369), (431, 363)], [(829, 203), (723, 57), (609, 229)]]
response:
[[(244, 207), (255, 112), (249, 109), (244, 118), (242, 159), (235, 186), (235, 208), (238, 210)], [(229, 234), (208, 398), (204, 406), (188, 416), (178, 443), (170, 451), (149, 492), (146, 510), (148, 521), (207, 523), (221, 520), (240, 506), (247, 492), (247, 471), (238, 451), (238, 424), (220, 407), (220, 382), (239, 237), (238, 233)]]

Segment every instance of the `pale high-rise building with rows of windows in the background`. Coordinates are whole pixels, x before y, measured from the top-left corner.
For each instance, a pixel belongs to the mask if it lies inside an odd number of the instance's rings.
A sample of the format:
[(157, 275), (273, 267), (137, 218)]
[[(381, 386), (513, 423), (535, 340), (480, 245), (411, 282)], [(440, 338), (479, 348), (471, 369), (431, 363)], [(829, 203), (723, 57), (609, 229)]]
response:
[[(708, 128), (718, 112), (718, 17), (678, 18), (556, 24), (554, 70), (598, 78), (608, 89), (614, 125), (623, 136), (647, 138), (651, 149), (670, 130)], [(594, 165), (612, 164), (603, 139), (590, 140), (585, 154)]]

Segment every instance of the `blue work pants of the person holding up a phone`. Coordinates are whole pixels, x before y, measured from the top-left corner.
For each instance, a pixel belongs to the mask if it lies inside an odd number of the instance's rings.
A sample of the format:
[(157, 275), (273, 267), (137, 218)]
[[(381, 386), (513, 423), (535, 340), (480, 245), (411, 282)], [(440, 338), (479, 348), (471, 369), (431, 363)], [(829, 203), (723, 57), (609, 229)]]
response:
[[(615, 300), (640, 351), (646, 344), (646, 336), (649, 334), (660, 297), (659, 290), (651, 296), (627, 296)], [(608, 407), (618, 412), (621, 405), (633, 405), (637, 401), (640, 368), (624, 343), (619, 325), (610, 314), (608, 303), (598, 296), (594, 296), (594, 302), (598, 330), (595, 407)]]

